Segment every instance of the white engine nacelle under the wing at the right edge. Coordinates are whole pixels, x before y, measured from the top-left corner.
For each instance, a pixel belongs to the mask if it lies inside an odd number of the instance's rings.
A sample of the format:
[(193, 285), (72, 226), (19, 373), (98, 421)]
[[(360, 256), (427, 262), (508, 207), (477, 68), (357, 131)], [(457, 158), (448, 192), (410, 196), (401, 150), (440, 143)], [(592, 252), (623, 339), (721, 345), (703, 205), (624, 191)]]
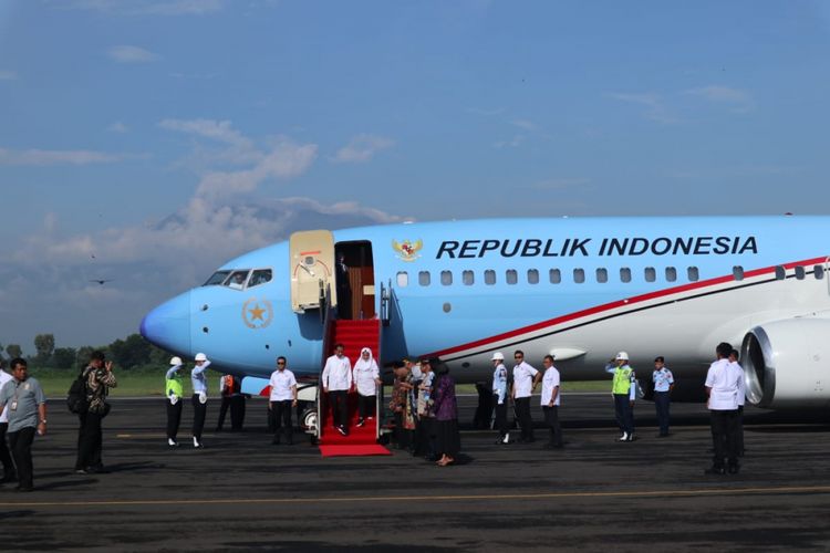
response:
[(790, 319), (744, 336), (747, 401), (771, 409), (830, 405), (830, 321)]

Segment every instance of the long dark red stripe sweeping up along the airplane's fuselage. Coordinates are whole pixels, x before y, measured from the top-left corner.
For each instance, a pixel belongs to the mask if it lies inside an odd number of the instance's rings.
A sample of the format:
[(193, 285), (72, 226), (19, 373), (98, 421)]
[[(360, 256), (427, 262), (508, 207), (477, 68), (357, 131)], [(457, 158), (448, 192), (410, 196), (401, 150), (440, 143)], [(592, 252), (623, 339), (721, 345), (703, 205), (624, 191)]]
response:
[[(771, 265), (771, 267), (765, 267), (762, 269), (754, 269), (751, 271), (746, 271), (744, 273), (744, 279), (751, 279), (754, 276), (760, 276), (762, 274), (767, 273), (774, 273), (776, 270), (776, 267), (784, 267), (785, 269), (792, 269), (795, 267), (799, 265), (810, 265), (810, 264), (823, 264), (828, 258), (813, 258), (808, 259), (805, 261), (795, 261), (792, 263), (787, 263), (784, 265)], [(830, 278), (830, 275), (829, 275)], [(502, 340), (510, 340), (516, 336), (520, 336), (522, 334), (528, 334), (531, 332), (540, 331), (543, 328), (548, 328), (550, 326), (556, 326), (558, 324), (568, 323), (570, 321), (574, 321), (577, 319), (582, 319), (591, 315), (595, 315), (598, 313), (602, 313), (605, 311), (612, 311), (618, 307), (624, 307), (624, 306), (631, 306), (633, 304), (647, 302), (650, 300), (655, 300), (658, 298), (665, 298), (668, 295), (679, 294), (683, 292), (688, 292), (693, 290), (701, 290), (705, 288), (716, 286), (718, 284), (724, 284), (726, 282), (730, 282), (734, 280), (733, 275), (727, 276), (718, 276), (716, 279), (709, 279), (706, 281), (701, 282), (691, 282), (688, 284), (683, 284), (681, 286), (674, 286), (674, 288), (667, 288), (664, 290), (657, 290), (656, 292), (649, 292), (647, 294), (642, 295), (635, 295), (634, 298), (629, 298), (627, 300), (618, 300), (611, 303), (605, 303), (602, 305), (596, 305), (594, 307), (589, 307), (583, 311), (577, 311), (574, 313), (569, 313), (567, 315), (558, 316), (554, 319), (550, 319), (548, 321), (542, 321), (541, 323), (535, 323), (529, 326), (522, 326), (521, 328), (517, 328), (515, 331), (505, 332), (502, 334), (497, 334), (495, 336), (489, 336), (486, 338), (481, 338), (475, 342), (468, 342), (467, 344), (457, 345), (454, 347), (449, 347), (447, 349), (442, 349), (440, 352), (435, 352), (427, 354), (429, 357), (440, 357), (444, 355), (450, 355), (454, 353), (463, 352), (465, 349), (474, 349), (477, 347), (486, 346), (489, 344), (492, 344), (495, 342), (501, 342)]]

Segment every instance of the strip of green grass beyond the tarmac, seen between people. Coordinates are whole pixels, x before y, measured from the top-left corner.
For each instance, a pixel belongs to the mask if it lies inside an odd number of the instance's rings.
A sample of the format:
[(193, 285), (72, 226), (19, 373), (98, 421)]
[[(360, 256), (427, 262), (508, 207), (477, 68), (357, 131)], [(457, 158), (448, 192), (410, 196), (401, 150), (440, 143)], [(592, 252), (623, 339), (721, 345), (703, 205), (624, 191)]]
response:
[[(54, 368), (32, 368), (29, 374), (35, 377), (43, 386), (46, 397), (52, 399), (66, 397), (72, 380), (77, 373), (71, 371), (60, 371)], [(145, 397), (162, 396), (164, 394), (164, 372), (160, 369), (135, 369), (135, 371), (116, 371), (115, 377), (118, 386), (110, 392), (111, 397)], [(212, 373), (208, 377), (208, 389), (211, 395), (216, 395), (219, 385), (219, 374)], [(184, 378), (185, 397), (190, 396), (190, 378)], [(539, 388), (537, 388), (539, 389)], [(587, 392), (608, 392), (611, 393), (610, 379), (604, 380), (585, 380), (585, 382), (563, 382), (563, 393), (587, 393)], [(392, 389), (386, 390), (386, 395)], [(457, 387), (458, 394), (475, 394), (474, 384), (461, 384)]]

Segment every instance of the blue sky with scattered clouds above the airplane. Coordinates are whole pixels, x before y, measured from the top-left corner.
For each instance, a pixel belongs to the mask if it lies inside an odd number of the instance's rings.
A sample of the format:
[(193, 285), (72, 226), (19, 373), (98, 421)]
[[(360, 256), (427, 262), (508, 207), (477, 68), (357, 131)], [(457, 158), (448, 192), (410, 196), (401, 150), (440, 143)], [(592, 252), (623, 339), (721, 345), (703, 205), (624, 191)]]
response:
[(829, 46), (821, 0), (0, 0), (0, 344), (300, 229), (826, 213)]

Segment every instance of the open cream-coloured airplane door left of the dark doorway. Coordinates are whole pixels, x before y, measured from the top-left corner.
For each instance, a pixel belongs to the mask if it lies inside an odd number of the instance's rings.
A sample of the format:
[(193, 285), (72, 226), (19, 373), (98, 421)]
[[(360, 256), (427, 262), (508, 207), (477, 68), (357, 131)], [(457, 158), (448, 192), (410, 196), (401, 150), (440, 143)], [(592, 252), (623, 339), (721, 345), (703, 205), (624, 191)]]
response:
[(289, 267), (291, 267), (291, 309), (305, 313), (321, 309), (325, 302), (326, 286), (331, 305), (338, 304), (334, 283), (334, 236), (329, 230), (294, 232), (289, 239)]

